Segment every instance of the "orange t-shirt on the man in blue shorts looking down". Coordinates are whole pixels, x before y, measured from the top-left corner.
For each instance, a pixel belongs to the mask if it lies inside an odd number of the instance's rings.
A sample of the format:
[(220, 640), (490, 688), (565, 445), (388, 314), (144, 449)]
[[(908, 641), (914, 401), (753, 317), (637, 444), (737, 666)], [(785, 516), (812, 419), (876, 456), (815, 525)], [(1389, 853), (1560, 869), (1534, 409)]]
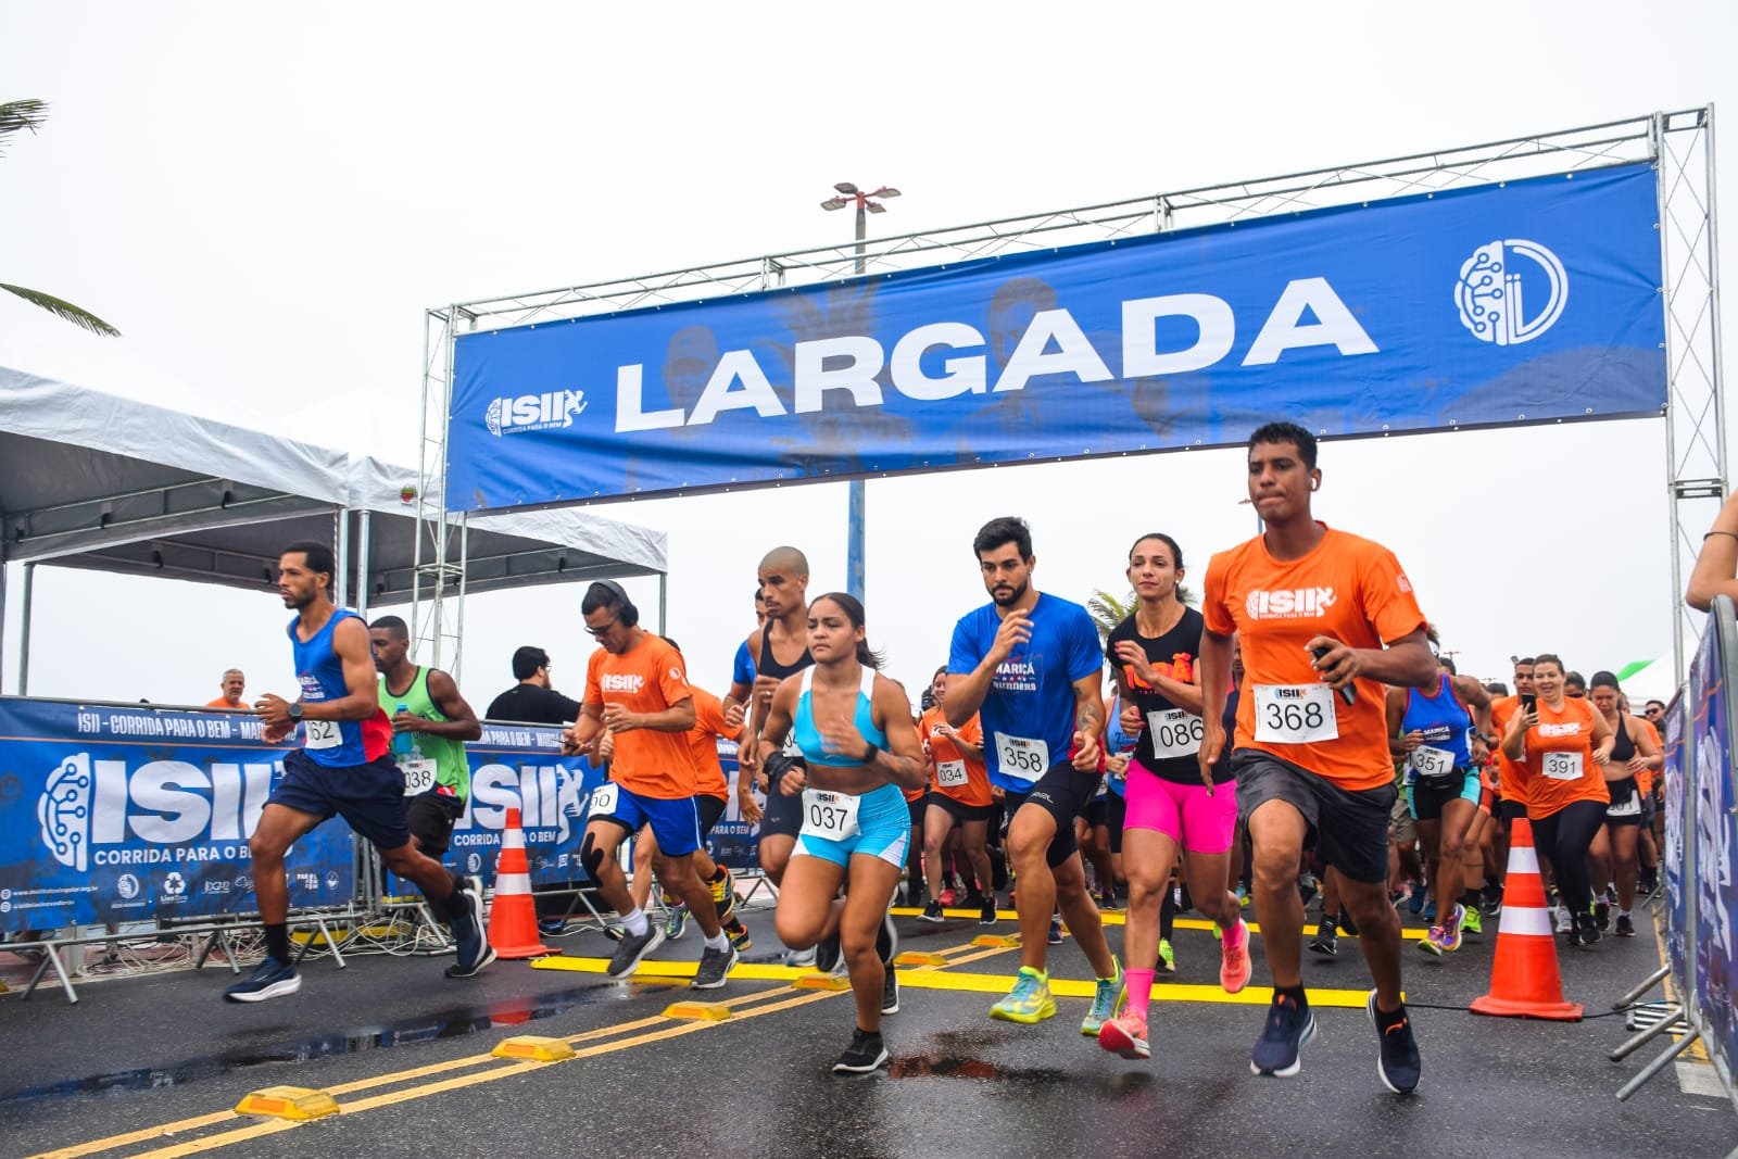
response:
[[(600, 716), (608, 704), (629, 712), (662, 712), (690, 699), (693, 688), (681, 653), (659, 636), (645, 636), (622, 655), (598, 648), (586, 664), (586, 707)], [(688, 733), (652, 728), (615, 733), (610, 780), (643, 798), (692, 798), (697, 773)]]

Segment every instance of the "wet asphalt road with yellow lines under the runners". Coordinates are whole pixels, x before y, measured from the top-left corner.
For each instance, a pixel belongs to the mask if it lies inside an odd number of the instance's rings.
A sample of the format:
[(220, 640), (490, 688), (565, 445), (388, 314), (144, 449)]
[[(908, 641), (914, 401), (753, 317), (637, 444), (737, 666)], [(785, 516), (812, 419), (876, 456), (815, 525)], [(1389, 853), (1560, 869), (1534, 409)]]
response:
[[(1416, 924), (1416, 923), (1411, 923)], [(1493, 923), (1495, 924), (1495, 923)], [(777, 954), (770, 914), (751, 914), (749, 963)], [(959, 964), (926, 971), (972, 985), (1008, 977), (1017, 950), (977, 949), (975, 921), (902, 917), (905, 950)], [(998, 933), (1012, 933), (1001, 923)], [(1112, 930), (1119, 945), (1121, 930)], [(732, 980), (704, 997), (733, 1003), (728, 1022), (671, 1022), (680, 983), (610, 982), (600, 973), (492, 966), (471, 982), (440, 977), (443, 959), (351, 957), (304, 968), (301, 994), (229, 1006), (228, 970), (82, 987), (68, 1006), (42, 990), (0, 997), (0, 1154), (137, 1135), (82, 1154), (141, 1156), (1274, 1156), (1312, 1149), (1368, 1156), (1726, 1156), (1738, 1145), (1731, 1103), (1686, 1095), (1668, 1069), (1629, 1103), (1616, 1088), (1655, 1053), (1622, 1063), (1606, 1051), (1622, 1018), (1582, 1023), (1476, 1018), (1495, 933), (1443, 961), (1408, 944), (1408, 990), (1425, 1077), (1411, 1098), (1376, 1081), (1370, 985), (1356, 942), (1307, 963), (1321, 1037), (1297, 1079), (1257, 1079), (1248, 1051), (1258, 1004), (1156, 999), (1154, 1060), (1133, 1063), (1083, 1037), (1085, 997), (1057, 1018), (1013, 1027), (985, 1018), (992, 992), (907, 985), (886, 1020), (893, 1065), (878, 1076), (827, 1072), (850, 1036), (846, 994)], [(596, 933), (556, 942), (603, 956)], [(1265, 1001), (1260, 938), (1250, 996)], [(690, 935), (657, 954), (693, 961)], [(1564, 954), (1564, 989), (1604, 1011), (1658, 964), (1642, 937)], [(1217, 938), (1178, 933), (1178, 975), (1213, 983)], [(1055, 978), (1086, 978), (1072, 942), (1053, 947)], [(907, 977), (911, 977), (907, 973)], [(1356, 1010), (1330, 1008), (1331, 992)], [(1206, 994), (1211, 997), (1211, 994)], [(488, 1051), (513, 1034), (577, 1037), (579, 1058), (513, 1063)], [(247, 1091), (332, 1089), (344, 1112), (283, 1129), (229, 1117)], [(191, 1150), (196, 1149), (196, 1150)]]

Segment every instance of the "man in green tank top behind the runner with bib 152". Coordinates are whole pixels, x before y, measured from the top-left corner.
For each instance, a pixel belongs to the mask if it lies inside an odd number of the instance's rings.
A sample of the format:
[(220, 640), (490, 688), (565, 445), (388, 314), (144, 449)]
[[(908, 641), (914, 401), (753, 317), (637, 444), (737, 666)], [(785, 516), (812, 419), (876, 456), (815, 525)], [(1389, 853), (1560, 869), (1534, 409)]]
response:
[(410, 662), (410, 629), (401, 619), (382, 615), (368, 638), (381, 672), (381, 709), (393, 721), (393, 761), (405, 773), (410, 839), (440, 860), (471, 796), (464, 742), (481, 738), (483, 725), (452, 676)]

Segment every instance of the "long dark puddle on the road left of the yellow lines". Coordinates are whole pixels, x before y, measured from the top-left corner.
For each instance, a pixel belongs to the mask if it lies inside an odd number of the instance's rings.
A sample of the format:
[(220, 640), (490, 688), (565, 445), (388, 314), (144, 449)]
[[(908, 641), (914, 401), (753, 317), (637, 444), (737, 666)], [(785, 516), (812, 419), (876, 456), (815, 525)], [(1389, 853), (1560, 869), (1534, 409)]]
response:
[(462, 1037), (480, 1034), (494, 1027), (518, 1027), (539, 1018), (549, 1018), (579, 1006), (620, 1001), (622, 990), (617, 987), (587, 987), (542, 994), (535, 999), (501, 1001), (487, 1006), (454, 1008), (429, 1015), (419, 1015), (389, 1025), (358, 1027), (335, 1030), (309, 1039), (280, 1043), (262, 1050), (235, 1050), (203, 1058), (189, 1058), (165, 1067), (141, 1067), (137, 1070), (113, 1070), (109, 1074), (92, 1074), (80, 1079), (66, 1079), (23, 1091), (0, 1093), (0, 1107), (56, 1098), (63, 1095), (90, 1095), (113, 1089), (155, 1089), (163, 1086), (182, 1086), (198, 1079), (212, 1079), (231, 1070), (262, 1067), (269, 1063), (297, 1063), (313, 1058), (332, 1058), (337, 1055), (358, 1055), (370, 1050), (389, 1050), (412, 1043), (429, 1043), (434, 1039)]

